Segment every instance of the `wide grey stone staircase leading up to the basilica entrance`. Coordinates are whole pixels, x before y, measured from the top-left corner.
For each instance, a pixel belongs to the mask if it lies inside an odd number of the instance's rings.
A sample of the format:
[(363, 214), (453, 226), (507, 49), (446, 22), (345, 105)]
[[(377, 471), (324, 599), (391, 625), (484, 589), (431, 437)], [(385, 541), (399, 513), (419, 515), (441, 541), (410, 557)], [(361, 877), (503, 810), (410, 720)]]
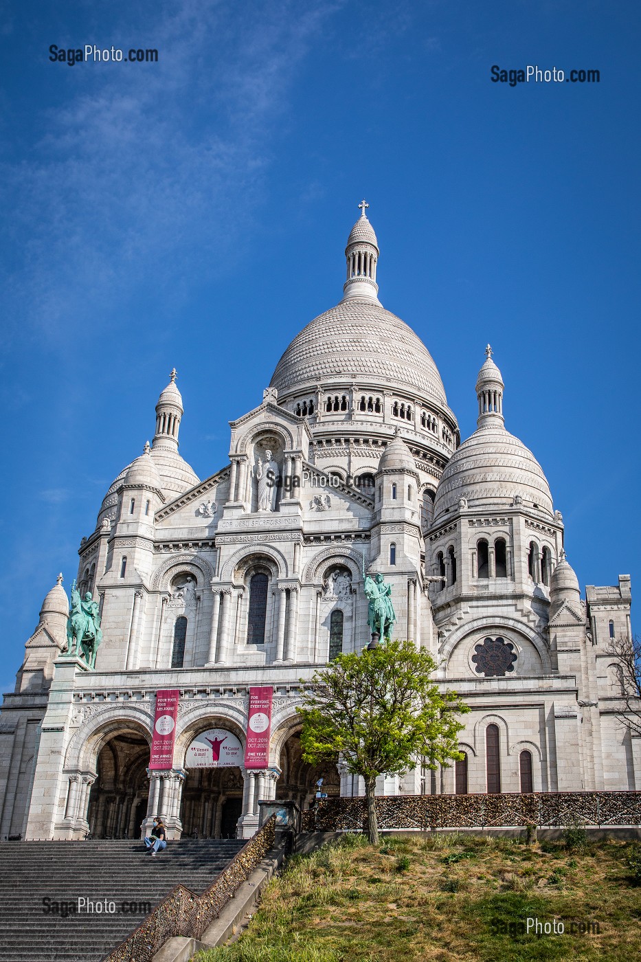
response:
[[(202, 893), (244, 844), (181, 840), (152, 857), (141, 841), (3, 843), (0, 962), (100, 962), (174, 885)], [(94, 911), (68, 911), (79, 898)]]

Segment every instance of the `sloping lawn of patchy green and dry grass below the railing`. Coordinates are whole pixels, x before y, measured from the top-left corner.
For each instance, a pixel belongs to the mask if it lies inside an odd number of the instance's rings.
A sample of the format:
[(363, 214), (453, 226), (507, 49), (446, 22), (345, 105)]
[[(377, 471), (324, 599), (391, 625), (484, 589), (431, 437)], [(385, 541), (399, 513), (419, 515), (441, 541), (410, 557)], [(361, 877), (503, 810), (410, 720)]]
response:
[[(196, 962), (529, 962), (641, 959), (639, 847), (586, 842), (527, 846), (462, 833), (349, 835), (296, 856), (266, 889), (238, 942)], [(527, 917), (565, 925), (526, 934)], [(573, 922), (600, 932), (572, 934)]]

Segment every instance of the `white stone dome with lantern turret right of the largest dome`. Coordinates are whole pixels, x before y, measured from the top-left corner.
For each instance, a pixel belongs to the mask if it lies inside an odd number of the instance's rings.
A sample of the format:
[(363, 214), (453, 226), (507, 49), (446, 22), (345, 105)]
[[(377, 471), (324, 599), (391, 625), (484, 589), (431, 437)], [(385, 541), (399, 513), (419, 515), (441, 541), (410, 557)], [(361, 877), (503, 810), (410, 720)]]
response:
[(526, 445), (503, 425), (503, 380), (486, 348), (487, 360), (478, 373), (478, 429), (463, 442), (446, 466), (434, 500), (434, 520), (458, 505), (508, 507), (521, 499), (553, 517), (548, 479)]

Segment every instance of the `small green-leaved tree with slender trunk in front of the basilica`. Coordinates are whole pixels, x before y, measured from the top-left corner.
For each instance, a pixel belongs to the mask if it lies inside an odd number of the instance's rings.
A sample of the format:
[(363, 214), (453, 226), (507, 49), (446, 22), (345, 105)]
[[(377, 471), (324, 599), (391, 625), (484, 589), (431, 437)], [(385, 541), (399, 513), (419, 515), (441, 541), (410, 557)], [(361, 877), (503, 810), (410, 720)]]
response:
[(339, 655), (315, 673), (298, 708), (303, 759), (315, 765), (340, 754), (348, 772), (363, 776), (374, 845), (379, 774), (402, 774), (419, 762), (436, 769), (463, 757), (457, 739), (463, 725), (455, 716), (470, 709), (455, 692), (439, 690), (431, 678), (436, 667), (412, 642)]

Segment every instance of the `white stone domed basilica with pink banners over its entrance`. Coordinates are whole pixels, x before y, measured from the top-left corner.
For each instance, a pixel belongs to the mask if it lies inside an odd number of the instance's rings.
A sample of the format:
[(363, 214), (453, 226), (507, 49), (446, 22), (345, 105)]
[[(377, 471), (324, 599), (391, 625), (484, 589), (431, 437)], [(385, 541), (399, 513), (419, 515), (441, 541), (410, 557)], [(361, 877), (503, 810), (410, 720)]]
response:
[(247, 837), (259, 799), (305, 808), (318, 782), (363, 794), (340, 759), (303, 761), (296, 706), (315, 671), (370, 643), (377, 574), (394, 636), (431, 652), (471, 708), (462, 760), (381, 776), (379, 794), (641, 789), (608, 655), (630, 631), (629, 576), (581, 596), (482, 344), (477, 429), (461, 443), (429, 351), (379, 300), (360, 206), (342, 299), (229, 422), (229, 463), (203, 480), (179, 453), (171, 371), (152, 443), (106, 492), (4, 696), (3, 841), (136, 838), (157, 814), (169, 837)]

